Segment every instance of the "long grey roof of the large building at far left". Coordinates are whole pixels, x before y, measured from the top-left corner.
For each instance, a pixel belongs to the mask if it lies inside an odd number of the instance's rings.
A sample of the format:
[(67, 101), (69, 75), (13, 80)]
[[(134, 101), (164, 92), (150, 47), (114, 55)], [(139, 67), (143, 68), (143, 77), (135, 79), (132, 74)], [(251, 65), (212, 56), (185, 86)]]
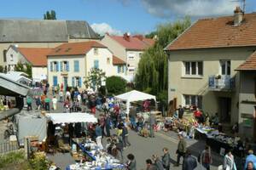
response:
[(85, 21), (0, 20), (0, 42), (68, 42), (68, 38), (98, 37)]

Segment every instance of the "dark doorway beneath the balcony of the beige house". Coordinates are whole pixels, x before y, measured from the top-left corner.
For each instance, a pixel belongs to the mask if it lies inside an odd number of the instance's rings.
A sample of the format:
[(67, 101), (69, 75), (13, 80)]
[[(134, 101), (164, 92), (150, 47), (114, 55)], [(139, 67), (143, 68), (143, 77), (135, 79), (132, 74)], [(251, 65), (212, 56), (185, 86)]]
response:
[(218, 98), (218, 112), (220, 122), (231, 121), (231, 98)]

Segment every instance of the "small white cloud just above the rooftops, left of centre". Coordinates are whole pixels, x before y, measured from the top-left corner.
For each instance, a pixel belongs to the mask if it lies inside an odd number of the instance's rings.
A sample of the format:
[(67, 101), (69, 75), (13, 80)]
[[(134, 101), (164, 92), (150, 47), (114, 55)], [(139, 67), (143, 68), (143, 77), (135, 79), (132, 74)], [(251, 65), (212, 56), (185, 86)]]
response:
[(107, 23), (103, 22), (103, 23), (100, 23), (100, 24), (92, 24), (90, 25), (91, 28), (96, 31), (98, 34), (100, 35), (104, 35), (105, 33), (109, 33), (111, 35), (122, 35), (122, 31), (119, 31), (119, 30), (115, 30), (112, 28), (112, 26), (109, 26)]

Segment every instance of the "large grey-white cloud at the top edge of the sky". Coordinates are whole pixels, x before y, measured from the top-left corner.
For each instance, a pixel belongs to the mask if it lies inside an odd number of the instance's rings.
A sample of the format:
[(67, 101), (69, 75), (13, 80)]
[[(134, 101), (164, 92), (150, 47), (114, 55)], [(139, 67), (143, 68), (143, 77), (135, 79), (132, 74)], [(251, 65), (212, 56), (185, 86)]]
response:
[(232, 14), (240, 3), (232, 0), (141, 0), (149, 14), (160, 18)]

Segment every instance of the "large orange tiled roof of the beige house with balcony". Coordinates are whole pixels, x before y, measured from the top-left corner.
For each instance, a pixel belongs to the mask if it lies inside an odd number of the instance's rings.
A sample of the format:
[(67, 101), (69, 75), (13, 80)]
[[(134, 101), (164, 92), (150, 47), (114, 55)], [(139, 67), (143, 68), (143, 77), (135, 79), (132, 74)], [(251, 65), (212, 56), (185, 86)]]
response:
[(256, 14), (245, 14), (240, 26), (234, 16), (198, 20), (166, 50), (256, 46)]

